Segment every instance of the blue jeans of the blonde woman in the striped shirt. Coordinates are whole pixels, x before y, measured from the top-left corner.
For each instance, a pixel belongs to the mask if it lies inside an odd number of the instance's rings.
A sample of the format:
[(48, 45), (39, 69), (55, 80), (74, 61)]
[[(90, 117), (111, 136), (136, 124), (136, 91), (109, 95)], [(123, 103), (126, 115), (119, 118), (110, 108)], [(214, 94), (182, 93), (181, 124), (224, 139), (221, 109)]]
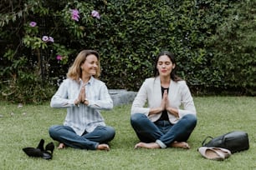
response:
[(115, 137), (115, 129), (109, 126), (99, 126), (93, 132), (85, 132), (79, 136), (69, 126), (54, 125), (49, 128), (49, 136), (72, 148), (95, 150), (100, 143), (108, 143)]

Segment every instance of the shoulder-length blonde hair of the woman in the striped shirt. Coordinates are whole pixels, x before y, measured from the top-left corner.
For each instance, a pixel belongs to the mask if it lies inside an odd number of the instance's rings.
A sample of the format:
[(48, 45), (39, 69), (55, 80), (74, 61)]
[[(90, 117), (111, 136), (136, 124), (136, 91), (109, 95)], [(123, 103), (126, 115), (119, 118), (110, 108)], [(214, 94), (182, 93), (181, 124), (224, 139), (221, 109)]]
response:
[(100, 54), (95, 50), (83, 50), (79, 52), (77, 57), (75, 57), (74, 62), (71, 67), (69, 67), (69, 72), (67, 73), (67, 77), (79, 81), (79, 78), (82, 77), (82, 69), (81, 65), (84, 64), (86, 57), (90, 54), (95, 55), (98, 58), (98, 68), (96, 74), (93, 76), (95, 78), (100, 77)]

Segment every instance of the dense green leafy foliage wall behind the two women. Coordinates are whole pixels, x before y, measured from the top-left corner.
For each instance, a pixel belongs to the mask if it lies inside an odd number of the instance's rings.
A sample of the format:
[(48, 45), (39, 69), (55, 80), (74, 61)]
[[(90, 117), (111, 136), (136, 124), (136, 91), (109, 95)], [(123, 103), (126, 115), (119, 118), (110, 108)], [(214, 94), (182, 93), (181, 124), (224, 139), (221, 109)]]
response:
[[(194, 94), (255, 95), (255, 7), (248, 0), (3, 1), (1, 96), (49, 100), (84, 48), (100, 52), (100, 79), (109, 88), (138, 90), (166, 49), (177, 55), (177, 73)], [(79, 10), (79, 22), (70, 9)], [(100, 19), (91, 16), (93, 10)], [(44, 35), (54, 43), (42, 41)]]

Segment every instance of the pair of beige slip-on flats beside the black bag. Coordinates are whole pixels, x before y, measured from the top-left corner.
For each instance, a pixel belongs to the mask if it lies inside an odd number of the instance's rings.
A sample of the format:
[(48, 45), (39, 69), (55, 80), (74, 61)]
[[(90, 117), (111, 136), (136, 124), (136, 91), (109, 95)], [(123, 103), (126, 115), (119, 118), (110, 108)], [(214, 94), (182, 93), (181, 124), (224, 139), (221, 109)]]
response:
[(201, 147), (198, 152), (202, 157), (216, 161), (223, 161), (231, 156), (231, 152), (225, 148)]

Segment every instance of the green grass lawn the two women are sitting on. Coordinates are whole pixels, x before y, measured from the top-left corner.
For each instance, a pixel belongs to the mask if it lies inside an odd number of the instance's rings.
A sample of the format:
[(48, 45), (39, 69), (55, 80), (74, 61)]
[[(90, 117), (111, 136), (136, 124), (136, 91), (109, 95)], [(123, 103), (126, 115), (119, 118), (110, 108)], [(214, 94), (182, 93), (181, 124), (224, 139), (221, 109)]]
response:
[[(3, 115), (0, 117), (0, 169), (256, 169), (256, 97), (195, 97), (194, 101), (198, 123), (188, 140), (192, 147), (189, 150), (134, 149), (139, 141), (130, 125), (131, 105), (124, 105), (102, 112), (105, 122), (116, 129), (110, 152), (55, 149), (50, 161), (28, 158), (22, 148), (36, 147), (41, 138), (46, 143), (52, 142), (48, 128), (62, 124), (66, 110), (51, 108), (49, 103), (17, 107), (0, 102), (0, 114)], [(215, 137), (234, 130), (248, 133), (248, 151), (234, 153), (223, 162), (207, 160), (197, 152), (207, 136)]]

